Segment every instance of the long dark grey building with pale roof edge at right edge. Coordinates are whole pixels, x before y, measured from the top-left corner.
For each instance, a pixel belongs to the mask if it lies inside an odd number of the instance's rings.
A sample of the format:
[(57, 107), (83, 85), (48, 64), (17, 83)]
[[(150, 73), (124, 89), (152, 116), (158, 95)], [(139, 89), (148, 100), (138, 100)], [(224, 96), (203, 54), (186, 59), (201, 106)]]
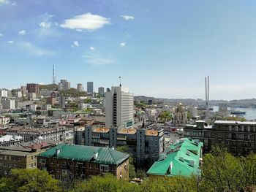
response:
[(203, 151), (210, 152), (213, 145), (221, 145), (233, 155), (256, 153), (256, 122), (216, 120), (208, 126), (203, 120), (184, 128), (184, 136), (203, 142)]

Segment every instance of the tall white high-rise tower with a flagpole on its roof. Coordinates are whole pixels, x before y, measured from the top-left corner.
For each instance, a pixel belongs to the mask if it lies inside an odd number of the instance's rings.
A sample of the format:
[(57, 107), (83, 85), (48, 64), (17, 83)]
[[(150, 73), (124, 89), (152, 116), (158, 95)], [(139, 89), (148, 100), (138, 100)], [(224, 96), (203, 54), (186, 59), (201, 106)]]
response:
[(133, 93), (129, 93), (128, 88), (122, 86), (112, 87), (105, 94), (105, 126), (118, 126), (130, 128), (133, 126)]

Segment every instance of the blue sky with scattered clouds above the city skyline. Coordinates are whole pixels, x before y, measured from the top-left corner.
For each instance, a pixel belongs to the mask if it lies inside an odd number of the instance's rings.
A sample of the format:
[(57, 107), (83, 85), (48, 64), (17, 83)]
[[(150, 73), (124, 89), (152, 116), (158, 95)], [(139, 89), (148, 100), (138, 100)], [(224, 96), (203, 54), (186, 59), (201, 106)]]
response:
[(136, 96), (256, 98), (256, 1), (0, 0), (0, 88), (56, 79)]

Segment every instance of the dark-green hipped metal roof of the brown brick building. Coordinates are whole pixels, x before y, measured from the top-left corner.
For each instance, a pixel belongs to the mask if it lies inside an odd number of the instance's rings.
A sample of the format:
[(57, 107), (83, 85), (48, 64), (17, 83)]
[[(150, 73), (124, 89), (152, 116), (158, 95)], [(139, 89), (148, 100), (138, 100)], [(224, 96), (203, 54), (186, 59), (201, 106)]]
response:
[[(56, 155), (56, 150), (61, 150), (59, 155)], [(94, 152), (98, 153), (94, 160)], [(53, 147), (38, 156), (45, 158), (60, 158), (82, 162), (94, 162), (97, 164), (121, 164), (121, 162), (129, 158), (128, 154), (118, 152), (108, 147), (92, 147), (83, 145), (67, 145), (60, 144)]]

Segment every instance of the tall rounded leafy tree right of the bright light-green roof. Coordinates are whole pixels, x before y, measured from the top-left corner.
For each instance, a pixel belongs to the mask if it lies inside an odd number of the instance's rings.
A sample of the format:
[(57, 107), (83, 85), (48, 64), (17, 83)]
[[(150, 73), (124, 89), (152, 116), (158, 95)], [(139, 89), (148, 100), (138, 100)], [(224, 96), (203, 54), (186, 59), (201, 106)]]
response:
[(214, 147), (203, 158), (200, 191), (240, 191), (244, 178), (241, 161), (225, 149)]

